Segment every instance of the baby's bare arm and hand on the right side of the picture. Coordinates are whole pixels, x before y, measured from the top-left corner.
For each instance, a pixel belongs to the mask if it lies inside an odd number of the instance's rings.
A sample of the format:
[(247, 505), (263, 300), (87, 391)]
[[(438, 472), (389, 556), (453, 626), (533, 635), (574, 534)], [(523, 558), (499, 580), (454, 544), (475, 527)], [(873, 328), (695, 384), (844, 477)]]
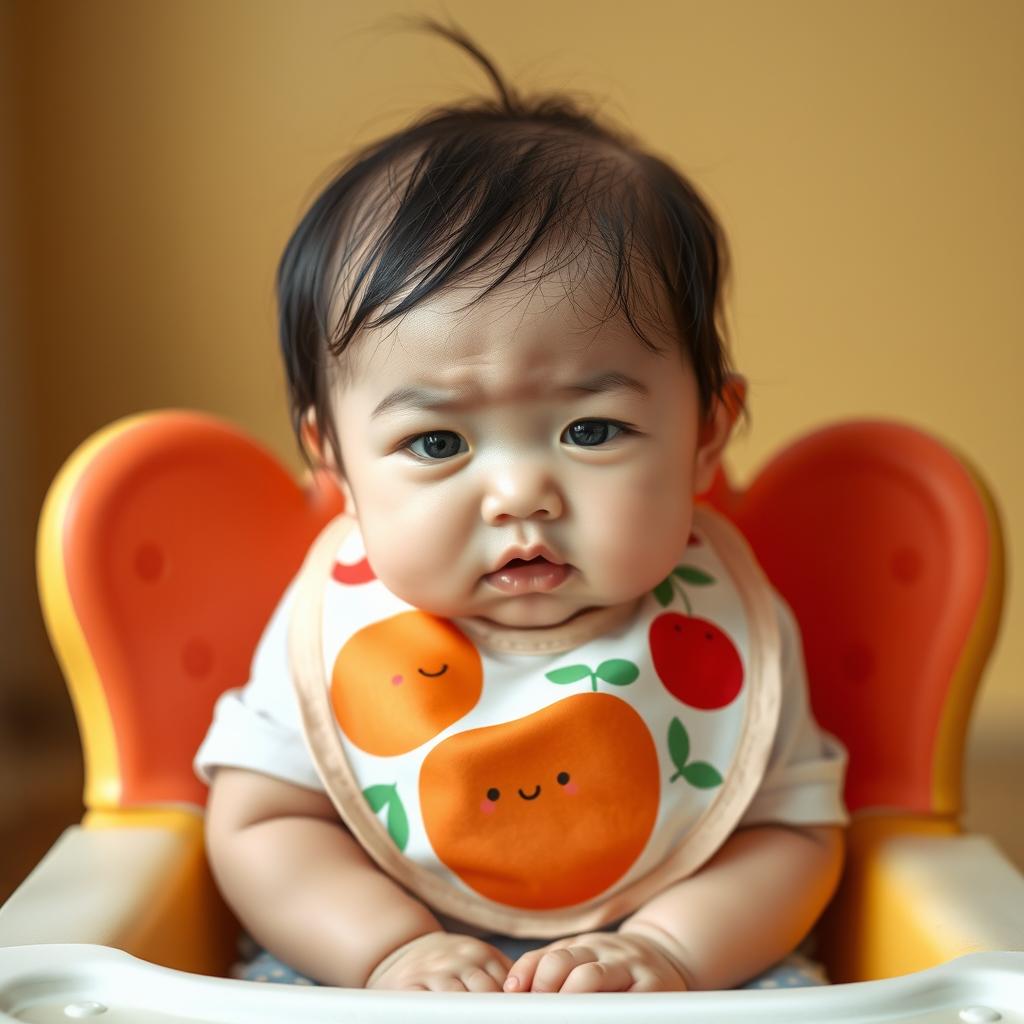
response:
[(617, 933), (562, 939), (520, 957), (506, 991), (731, 988), (796, 947), (842, 864), (838, 827), (742, 828)]

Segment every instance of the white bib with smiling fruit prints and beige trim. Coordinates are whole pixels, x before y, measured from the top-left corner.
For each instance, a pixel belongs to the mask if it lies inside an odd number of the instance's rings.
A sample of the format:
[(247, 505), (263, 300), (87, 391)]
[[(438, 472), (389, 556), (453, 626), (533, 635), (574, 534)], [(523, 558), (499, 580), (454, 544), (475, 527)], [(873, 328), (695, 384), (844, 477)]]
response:
[(303, 566), (289, 649), (352, 835), (436, 912), (506, 935), (600, 928), (699, 868), (778, 721), (771, 589), (702, 507), (636, 606), (529, 631), (410, 606), (341, 517)]

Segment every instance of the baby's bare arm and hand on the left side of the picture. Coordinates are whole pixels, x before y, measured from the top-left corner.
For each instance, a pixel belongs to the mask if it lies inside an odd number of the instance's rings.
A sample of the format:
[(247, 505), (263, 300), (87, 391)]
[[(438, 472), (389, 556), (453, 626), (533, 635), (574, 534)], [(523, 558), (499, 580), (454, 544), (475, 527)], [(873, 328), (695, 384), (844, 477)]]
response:
[(369, 979), (389, 988), (501, 989), (508, 959), (477, 939), (444, 933), (362, 852), (326, 795), (220, 768), (206, 842), (239, 920), (297, 971), (349, 987)]

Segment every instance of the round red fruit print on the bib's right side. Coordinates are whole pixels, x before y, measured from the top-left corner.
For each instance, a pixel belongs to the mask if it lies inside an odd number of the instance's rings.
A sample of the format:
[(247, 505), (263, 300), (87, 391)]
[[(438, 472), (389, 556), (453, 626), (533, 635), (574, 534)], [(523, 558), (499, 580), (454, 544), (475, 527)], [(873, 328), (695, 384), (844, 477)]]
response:
[(678, 700), (715, 711), (743, 687), (743, 666), (729, 637), (707, 618), (667, 611), (650, 624), (650, 655), (657, 678)]

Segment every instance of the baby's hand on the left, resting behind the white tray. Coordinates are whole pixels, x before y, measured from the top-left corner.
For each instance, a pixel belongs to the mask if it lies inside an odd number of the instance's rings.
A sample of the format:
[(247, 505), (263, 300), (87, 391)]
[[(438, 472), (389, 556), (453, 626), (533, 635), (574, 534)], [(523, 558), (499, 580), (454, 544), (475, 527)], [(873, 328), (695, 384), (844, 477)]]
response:
[(430, 932), (385, 956), (367, 980), (367, 988), (500, 992), (511, 964), (479, 939)]

